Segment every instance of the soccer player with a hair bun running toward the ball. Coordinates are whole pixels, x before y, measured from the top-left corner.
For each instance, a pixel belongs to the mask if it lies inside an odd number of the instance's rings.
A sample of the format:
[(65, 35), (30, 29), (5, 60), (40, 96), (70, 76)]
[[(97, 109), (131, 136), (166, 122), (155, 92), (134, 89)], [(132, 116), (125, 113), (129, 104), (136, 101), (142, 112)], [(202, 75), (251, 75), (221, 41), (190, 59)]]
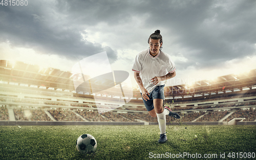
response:
[(150, 44), (150, 49), (143, 50), (136, 56), (132, 70), (148, 113), (157, 117), (160, 129), (158, 142), (164, 143), (167, 141), (165, 115), (180, 118), (168, 106), (163, 109), (164, 81), (176, 76), (176, 68), (169, 55), (161, 51), (163, 40), (160, 30), (151, 34), (147, 43)]

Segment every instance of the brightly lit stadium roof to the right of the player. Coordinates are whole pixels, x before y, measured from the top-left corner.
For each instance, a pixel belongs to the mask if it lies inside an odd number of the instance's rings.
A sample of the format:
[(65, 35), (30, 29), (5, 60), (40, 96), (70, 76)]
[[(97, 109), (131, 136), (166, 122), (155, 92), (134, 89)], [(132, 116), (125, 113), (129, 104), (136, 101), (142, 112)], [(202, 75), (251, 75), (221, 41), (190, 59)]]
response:
[(230, 74), (215, 79), (196, 81), (165, 87), (166, 96), (203, 95), (219, 92), (234, 92), (237, 90), (251, 89), (256, 86), (256, 70), (248, 70), (240, 74)]

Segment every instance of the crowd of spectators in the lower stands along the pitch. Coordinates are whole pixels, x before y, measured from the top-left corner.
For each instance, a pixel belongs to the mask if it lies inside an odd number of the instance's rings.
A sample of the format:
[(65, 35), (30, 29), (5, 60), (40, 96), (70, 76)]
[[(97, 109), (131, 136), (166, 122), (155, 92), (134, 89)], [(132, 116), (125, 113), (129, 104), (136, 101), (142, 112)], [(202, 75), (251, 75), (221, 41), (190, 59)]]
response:
[[(255, 105), (256, 102), (244, 102), (239, 103), (239, 105)], [(85, 104), (86, 105), (86, 104)], [(226, 107), (226, 106), (234, 106), (234, 104), (221, 104), (218, 106)], [(106, 106), (108, 107), (108, 106)], [(33, 107), (31, 107), (33, 108)], [(23, 108), (14, 108), (13, 112), (15, 115), (15, 119), (17, 121), (51, 121), (51, 119), (47, 116), (44, 110), (42, 109), (25, 109)], [(108, 107), (109, 108), (109, 107)], [(124, 108), (124, 107), (123, 107)], [(126, 107), (127, 108), (127, 107)], [(132, 109), (131, 109), (132, 108)], [(191, 107), (192, 108), (192, 107)], [(201, 106), (200, 106), (201, 108)], [(204, 108), (209, 108), (209, 106), (205, 106)], [(129, 109), (137, 110), (142, 108), (130, 107)], [(180, 122), (191, 122), (196, 120), (198, 117), (202, 116), (206, 112), (188, 112), (183, 113), (178, 108), (174, 108), (176, 112), (179, 112), (181, 119)], [(128, 109), (125, 109), (128, 111)], [(196, 109), (195, 109), (196, 110)], [(7, 107), (1, 107), (0, 120), (9, 120), (8, 118), (8, 109)], [(57, 121), (84, 121), (79, 116), (76, 115), (71, 110), (63, 110), (63, 109), (48, 109), (49, 113), (51, 113), (52, 117)], [(142, 120), (146, 122), (157, 122), (157, 118), (152, 118), (148, 113), (117, 113), (117, 112), (104, 112), (99, 114), (98, 111), (78, 111), (76, 112), (84, 117), (88, 121), (94, 122), (136, 122), (136, 120)], [(198, 119), (197, 122), (218, 122), (223, 117), (225, 117), (230, 111), (209, 111), (202, 118)], [(255, 121), (256, 119), (256, 110), (253, 108), (246, 110), (237, 110), (234, 112), (229, 118), (225, 121), (230, 121), (233, 118), (246, 118), (244, 121)], [(175, 119), (169, 116), (166, 116), (166, 122), (175, 122)]]

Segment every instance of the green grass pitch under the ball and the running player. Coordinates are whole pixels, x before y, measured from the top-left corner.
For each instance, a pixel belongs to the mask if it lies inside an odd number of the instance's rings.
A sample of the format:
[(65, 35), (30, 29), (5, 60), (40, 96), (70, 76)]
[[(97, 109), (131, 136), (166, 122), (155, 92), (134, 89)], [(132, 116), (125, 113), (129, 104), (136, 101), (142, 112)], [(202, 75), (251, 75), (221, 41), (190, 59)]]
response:
[[(158, 125), (0, 126), (0, 159), (155, 159), (154, 154), (157, 159), (168, 159), (166, 154), (183, 152), (241, 159), (237, 158), (240, 152), (256, 153), (256, 126), (181, 125), (166, 126), (166, 131), (168, 141), (159, 144)], [(83, 133), (97, 140), (96, 154), (85, 156), (76, 150), (76, 139)], [(228, 158), (229, 152), (235, 157)], [(223, 153), (225, 158), (220, 158)]]

